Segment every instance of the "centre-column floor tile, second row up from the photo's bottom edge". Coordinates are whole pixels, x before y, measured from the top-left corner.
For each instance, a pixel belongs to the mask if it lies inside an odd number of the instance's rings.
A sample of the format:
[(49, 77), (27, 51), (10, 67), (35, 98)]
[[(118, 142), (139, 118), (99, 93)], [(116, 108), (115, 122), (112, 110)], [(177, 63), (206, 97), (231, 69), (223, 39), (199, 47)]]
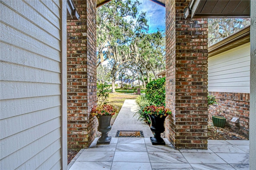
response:
[(113, 162), (150, 162), (148, 152), (115, 152)]

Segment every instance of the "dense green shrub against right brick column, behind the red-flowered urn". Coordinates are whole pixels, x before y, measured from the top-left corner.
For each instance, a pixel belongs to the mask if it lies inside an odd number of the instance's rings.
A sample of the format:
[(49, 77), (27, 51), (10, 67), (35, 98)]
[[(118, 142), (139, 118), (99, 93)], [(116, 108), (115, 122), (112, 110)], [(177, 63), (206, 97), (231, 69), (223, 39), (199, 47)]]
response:
[(165, 77), (147, 84), (146, 98), (150, 105), (165, 106)]

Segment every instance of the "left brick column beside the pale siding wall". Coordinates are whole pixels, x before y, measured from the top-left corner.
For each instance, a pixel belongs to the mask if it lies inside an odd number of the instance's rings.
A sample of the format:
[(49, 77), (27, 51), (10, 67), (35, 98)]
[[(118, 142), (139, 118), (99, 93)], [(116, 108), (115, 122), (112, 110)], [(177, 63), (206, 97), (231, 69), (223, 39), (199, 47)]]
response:
[(96, 1), (74, 1), (80, 20), (68, 20), (68, 149), (87, 148), (96, 134)]

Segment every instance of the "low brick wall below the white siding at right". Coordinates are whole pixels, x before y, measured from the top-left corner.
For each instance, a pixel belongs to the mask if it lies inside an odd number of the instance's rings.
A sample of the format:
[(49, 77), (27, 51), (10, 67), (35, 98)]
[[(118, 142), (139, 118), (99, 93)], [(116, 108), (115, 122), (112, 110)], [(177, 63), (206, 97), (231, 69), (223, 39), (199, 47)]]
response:
[[(209, 121), (212, 121), (212, 115), (225, 117), (226, 126), (249, 138), (250, 94), (226, 92), (209, 92), (209, 94), (216, 96), (218, 100), (217, 105), (211, 105), (208, 109)], [(232, 123), (233, 117), (238, 117), (239, 123)]]

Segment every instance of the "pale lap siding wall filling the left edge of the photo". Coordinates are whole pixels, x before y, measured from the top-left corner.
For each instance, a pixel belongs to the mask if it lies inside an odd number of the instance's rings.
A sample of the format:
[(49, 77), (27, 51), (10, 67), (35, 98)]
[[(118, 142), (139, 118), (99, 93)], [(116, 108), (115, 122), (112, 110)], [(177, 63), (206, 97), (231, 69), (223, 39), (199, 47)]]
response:
[(1, 0), (0, 16), (0, 169), (61, 169), (61, 2)]

